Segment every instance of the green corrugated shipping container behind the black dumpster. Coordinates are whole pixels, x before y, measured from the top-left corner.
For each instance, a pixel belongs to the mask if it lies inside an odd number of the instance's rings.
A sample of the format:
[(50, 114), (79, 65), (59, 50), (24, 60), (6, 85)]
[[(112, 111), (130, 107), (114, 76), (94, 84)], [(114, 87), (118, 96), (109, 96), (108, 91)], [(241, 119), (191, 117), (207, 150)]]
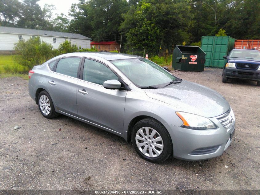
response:
[(234, 38), (226, 37), (205, 37), (201, 38), (201, 49), (206, 53), (206, 67), (222, 68), (225, 65), (224, 55), (228, 55), (234, 48)]

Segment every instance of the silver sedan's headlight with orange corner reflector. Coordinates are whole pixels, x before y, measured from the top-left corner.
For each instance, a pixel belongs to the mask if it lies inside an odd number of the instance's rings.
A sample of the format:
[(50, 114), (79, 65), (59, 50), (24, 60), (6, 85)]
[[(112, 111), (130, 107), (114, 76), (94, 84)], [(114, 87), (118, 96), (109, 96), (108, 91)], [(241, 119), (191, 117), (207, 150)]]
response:
[(206, 117), (190, 114), (187, 112), (176, 112), (176, 114), (182, 120), (183, 124), (181, 127), (183, 128), (195, 130), (217, 128), (217, 126)]

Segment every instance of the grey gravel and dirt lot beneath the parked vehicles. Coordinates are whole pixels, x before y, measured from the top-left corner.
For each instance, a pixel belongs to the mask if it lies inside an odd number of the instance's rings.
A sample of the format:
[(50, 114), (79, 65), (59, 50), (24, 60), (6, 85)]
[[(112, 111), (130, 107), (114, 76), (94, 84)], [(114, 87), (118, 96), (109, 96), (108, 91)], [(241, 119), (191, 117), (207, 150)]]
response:
[(237, 120), (230, 147), (211, 160), (170, 157), (162, 164), (142, 160), (131, 143), (101, 129), (66, 116), (44, 118), (28, 81), (0, 79), (0, 189), (260, 189), (260, 87), (222, 83), (221, 72), (174, 75), (228, 100)]

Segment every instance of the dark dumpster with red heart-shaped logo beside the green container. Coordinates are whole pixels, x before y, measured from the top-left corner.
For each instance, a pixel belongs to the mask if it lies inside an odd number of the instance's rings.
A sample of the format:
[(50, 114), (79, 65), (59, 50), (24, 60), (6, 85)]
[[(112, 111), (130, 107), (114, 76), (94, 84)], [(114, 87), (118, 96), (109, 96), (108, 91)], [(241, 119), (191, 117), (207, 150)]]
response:
[(205, 56), (198, 46), (177, 45), (173, 51), (172, 67), (180, 71), (203, 71)]

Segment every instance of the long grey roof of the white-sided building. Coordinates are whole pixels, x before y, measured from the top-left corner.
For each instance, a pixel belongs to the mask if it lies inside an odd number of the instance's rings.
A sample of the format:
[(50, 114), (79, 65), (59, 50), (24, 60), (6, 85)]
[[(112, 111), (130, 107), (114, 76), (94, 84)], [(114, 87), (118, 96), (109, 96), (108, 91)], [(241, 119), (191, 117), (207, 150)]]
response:
[(36, 30), (36, 29), (28, 29), (28, 28), (15, 28), (15, 27), (6, 27), (6, 26), (0, 26), (0, 33), (12, 33), (12, 34), (19, 34), (19, 35), (40, 35), (40, 36), (65, 37), (65, 38), (91, 40), (86, 36), (75, 34), (75, 33), (65, 33), (65, 32), (57, 32), (57, 31), (50, 31), (50, 30)]

